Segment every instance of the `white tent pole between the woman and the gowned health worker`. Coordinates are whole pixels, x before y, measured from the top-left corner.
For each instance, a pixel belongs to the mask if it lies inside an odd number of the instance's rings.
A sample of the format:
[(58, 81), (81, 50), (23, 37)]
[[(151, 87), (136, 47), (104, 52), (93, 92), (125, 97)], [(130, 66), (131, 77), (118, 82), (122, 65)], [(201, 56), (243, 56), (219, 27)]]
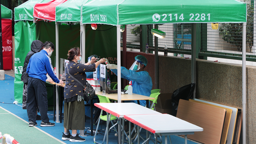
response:
[(117, 102), (121, 102), (121, 50), (120, 50), (120, 25), (116, 26), (117, 35)]

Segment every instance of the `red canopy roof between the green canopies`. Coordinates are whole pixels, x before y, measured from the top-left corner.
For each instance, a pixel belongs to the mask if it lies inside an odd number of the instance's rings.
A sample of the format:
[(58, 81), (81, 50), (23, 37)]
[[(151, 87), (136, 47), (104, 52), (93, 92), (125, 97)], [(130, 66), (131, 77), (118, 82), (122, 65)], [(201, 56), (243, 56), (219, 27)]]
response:
[(37, 3), (34, 6), (33, 16), (36, 18), (55, 21), (55, 7), (67, 0), (53, 0), (47, 3)]

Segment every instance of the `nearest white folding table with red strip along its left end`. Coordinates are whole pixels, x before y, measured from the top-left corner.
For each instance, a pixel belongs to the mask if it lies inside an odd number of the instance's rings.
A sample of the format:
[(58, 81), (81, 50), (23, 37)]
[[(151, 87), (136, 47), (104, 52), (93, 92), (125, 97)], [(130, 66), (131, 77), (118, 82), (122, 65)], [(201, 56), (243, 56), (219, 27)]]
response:
[[(125, 119), (131, 123), (146, 129), (149, 132), (165, 135), (167, 144), (167, 135), (185, 135), (185, 144), (187, 144), (187, 134), (194, 134), (195, 131), (203, 131), (203, 128), (188, 123), (182, 119), (169, 114), (144, 114), (144, 115), (125, 115)], [(140, 131), (138, 127), (138, 144), (140, 143)], [(147, 139), (149, 140), (149, 138)], [(146, 141), (147, 141), (146, 140)], [(145, 141), (145, 142), (146, 142)], [(144, 142), (143, 142), (144, 143)], [(157, 140), (156, 140), (157, 143)]]

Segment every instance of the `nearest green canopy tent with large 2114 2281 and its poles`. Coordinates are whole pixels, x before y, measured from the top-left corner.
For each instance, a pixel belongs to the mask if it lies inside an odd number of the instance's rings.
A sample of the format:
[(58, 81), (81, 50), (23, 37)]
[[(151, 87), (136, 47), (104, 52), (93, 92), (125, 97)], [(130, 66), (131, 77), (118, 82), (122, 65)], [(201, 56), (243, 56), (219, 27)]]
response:
[[(245, 144), (245, 36), (246, 3), (236, 0), (94, 0), (82, 5), (83, 24), (108, 24), (117, 26), (118, 102), (120, 85), (120, 25), (166, 23), (243, 23), (243, 143)], [(192, 82), (196, 82), (196, 25), (192, 26), (191, 65)], [(156, 38), (156, 37), (155, 37)], [(155, 49), (156, 61), (158, 50)], [(156, 80), (157, 81), (157, 80)], [(156, 82), (157, 83), (157, 82)], [(195, 94), (194, 94), (195, 97)], [(119, 141), (120, 143), (120, 141)]]

